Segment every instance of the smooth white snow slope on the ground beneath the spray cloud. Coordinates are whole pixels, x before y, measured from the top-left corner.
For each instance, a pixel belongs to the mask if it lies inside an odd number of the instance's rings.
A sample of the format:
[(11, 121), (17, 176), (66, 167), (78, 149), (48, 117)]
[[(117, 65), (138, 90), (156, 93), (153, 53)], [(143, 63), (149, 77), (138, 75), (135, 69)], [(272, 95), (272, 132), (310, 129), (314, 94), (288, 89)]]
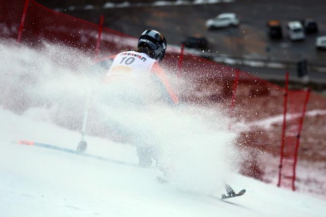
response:
[[(156, 181), (160, 172), (36, 146), (26, 139), (75, 148), (77, 132), (0, 109), (1, 216), (324, 216), (325, 201), (230, 174), (241, 197), (221, 201)], [(89, 153), (136, 163), (135, 149), (87, 137)], [(189, 170), (191, 171), (191, 170)], [(205, 184), (205, 183), (202, 183)], [(216, 196), (223, 189), (216, 187)]]

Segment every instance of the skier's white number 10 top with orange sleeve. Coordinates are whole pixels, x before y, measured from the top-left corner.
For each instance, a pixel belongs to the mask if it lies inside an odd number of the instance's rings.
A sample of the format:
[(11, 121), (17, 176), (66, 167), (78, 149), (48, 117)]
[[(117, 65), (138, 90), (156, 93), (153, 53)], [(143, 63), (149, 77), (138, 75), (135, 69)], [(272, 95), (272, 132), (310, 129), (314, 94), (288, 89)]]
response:
[(137, 77), (148, 76), (157, 83), (160, 91), (168, 98), (170, 103), (179, 103), (178, 97), (171, 88), (164, 70), (159, 66), (158, 61), (145, 53), (136, 51), (125, 51), (117, 55), (106, 57), (97, 62), (97, 66), (106, 70), (105, 82), (124, 79), (125, 76)]

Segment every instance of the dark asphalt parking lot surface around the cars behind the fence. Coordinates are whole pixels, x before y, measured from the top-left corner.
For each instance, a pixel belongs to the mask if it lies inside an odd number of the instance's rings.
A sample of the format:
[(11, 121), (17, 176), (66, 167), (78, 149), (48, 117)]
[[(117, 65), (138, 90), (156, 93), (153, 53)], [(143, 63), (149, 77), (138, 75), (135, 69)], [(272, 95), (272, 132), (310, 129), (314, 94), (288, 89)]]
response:
[[(326, 51), (315, 47), (317, 36), (326, 35), (326, 8), (323, 0), (253, 0), (203, 5), (95, 8), (88, 11), (67, 10), (65, 13), (98, 23), (99, 15), (105, 16), (104, 25), (138, 37), (148, 28), (164, 33), (169, 44), (180, 45), (188, 36), (201, 35), (208, 40), (205, 52), (253, 59), (296, 61), (306, 58), (310, 64), (324, 64)], [(232, 12), (240, 24), (237, 27), (209, 30), (205, 21), (220, 13)], [(319, 28), (317, 34), (307, 34), (303, 41), (291, 41), (285, 36), (286, 23), (313, 18)], [(271, 40), (267, 34), (268, 20), (279, 20), (283, 39)], [(249, 69), (252, 71), (252, 69)], [(320, 75), (318, 75), (320, 77)], [(321, 76), (321, 77), (326, 77)]]

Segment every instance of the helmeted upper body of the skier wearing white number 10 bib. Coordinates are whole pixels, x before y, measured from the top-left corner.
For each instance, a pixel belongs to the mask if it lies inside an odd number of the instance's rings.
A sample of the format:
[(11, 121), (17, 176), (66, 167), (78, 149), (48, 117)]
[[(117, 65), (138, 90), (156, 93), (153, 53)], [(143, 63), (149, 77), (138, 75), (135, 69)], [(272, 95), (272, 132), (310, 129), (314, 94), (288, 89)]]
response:
[(145, 30), (138, 40), (136, 51), (124, 51), (114, 56), (106, 57), (98, 62), (101, 66), (110, 66), (106, 73), (105, 82), (123, 79), (123, 77), (151, 77), (151, 80), (161, 89), (166, 101), (171, 104), (179, 102), (171, 88), (169, 80), (160, 67), (159, 62), (164, 58), (167, 41), (156, 30)]

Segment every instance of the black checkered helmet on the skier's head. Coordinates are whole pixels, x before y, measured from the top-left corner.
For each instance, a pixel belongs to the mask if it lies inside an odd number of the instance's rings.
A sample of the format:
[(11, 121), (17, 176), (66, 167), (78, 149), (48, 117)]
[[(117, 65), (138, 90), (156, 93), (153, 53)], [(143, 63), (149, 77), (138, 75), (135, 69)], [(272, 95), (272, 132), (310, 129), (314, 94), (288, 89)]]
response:
[(165, 50), (167, 49), (167, 41), (164, 36), (157, 32), (156, 30), (145, 30), (141, 37), (138, 39), (138, 49), (143, 45), (147, 45), (154, 54), (152, 58), (160, 61), (165, 55)]

